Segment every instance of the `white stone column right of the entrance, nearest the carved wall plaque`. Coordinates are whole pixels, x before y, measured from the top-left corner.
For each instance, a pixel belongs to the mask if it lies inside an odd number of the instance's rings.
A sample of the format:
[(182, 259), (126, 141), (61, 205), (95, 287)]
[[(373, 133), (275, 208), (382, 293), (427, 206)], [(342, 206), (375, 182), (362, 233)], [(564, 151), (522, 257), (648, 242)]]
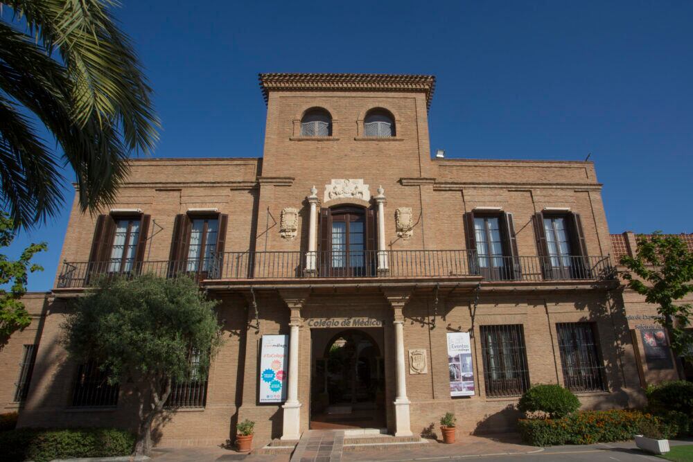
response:
[(412, 436), (410, 423), (410, 400), (407, 398), (407, 374), (404, 358), (404, 316), (402, 308), (409, 300), (407, 292), (385, 292), (387, 301), (394, 310), (394, 339), (395, 339), (395, 376), (397, 395), (394, 400), (395, 432), (394, 436)]

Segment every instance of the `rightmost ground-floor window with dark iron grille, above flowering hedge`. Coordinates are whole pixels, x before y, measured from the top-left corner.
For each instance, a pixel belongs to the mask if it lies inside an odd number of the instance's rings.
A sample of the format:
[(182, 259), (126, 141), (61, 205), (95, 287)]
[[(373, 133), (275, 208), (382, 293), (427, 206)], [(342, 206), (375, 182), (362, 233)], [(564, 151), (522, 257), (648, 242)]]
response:
[(563, 381), (571, 391), (603, 391), (604, 364), (594, 323), (557, 323)]

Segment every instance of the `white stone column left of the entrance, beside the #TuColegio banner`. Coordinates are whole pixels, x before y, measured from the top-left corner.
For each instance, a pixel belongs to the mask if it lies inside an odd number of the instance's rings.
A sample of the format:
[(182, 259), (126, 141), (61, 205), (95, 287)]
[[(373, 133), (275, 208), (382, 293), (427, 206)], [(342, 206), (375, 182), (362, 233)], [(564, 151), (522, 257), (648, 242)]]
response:
[(299, 335), (301, 333), (301, 307), (308, 297), (307, 291), (280, 292), (289, 309), (289, 376), (286, 402), (283, 409), (283, 427), (281, 439), (298, 440), (301, 438), (301, 402), (299, 401)]

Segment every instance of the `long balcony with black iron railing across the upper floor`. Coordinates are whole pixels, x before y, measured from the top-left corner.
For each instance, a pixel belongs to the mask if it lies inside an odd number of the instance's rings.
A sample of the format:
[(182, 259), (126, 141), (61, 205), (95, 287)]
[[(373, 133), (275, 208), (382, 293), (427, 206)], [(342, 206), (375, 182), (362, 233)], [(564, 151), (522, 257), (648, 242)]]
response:
[(188, 261), (64, 262), (58, 289), (91, 287), (101, 277), (182, 274), (205, 281), (459, 280), (538, 283), (614, 278), (608, 256), (480, 256), (468, 250), (351, 252), (245, 251)]

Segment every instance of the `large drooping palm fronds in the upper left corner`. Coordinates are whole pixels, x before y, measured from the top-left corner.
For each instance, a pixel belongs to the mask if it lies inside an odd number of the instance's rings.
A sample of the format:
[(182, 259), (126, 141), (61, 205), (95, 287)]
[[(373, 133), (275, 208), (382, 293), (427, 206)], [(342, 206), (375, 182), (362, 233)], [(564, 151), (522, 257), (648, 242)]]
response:
[[(159, 121), (114, 0), (0, 1), (0, 201), (15, 226), (54, 216), (62, 164), (82, 211), (113, 201), (130, 154), (152, 152)], [(42, 123), (51, 149), (37, 135)]]

